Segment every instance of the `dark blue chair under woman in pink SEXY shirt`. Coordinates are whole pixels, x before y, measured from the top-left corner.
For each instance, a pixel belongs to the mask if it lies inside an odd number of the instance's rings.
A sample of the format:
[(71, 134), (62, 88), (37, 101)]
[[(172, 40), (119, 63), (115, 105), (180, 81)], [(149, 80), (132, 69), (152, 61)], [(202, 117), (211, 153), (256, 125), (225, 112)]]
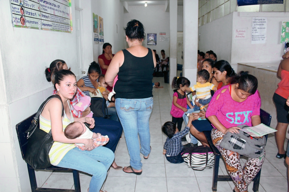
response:
[[(260, 118), (261, 118), (261, 123), (264, 125), (270, 126), (271, 124), (271, 114), (267, 113), (266, 111), (260, 109)], [(208, 143), (212, 149), (212, 151), (215, 154), (215, 162), (214, 162), (214, 172), (213, 172), (213, 185), (212, 185), (212, 191), (217, 191), (217, 184), (218, 181), (231, 181), (232, 178), (229, 175), (218, 175), (219, 173), (219, 163), (220, 163), (220, 157), (222, 157), (220, 151), (214, 146), (212, 142), (212, 137), (211, 137), (211, 131), (203, 131), (205, 134)], [(265, 135), (266, 140), (268, 138), (268, 135)], [(261, 170), (259, 173), (256, 175), (256, 177), (253, 179), (253, 191), (257, 192), (259, 191), (259, 182), (260, 182), (260, 175), (261, 175)]]

